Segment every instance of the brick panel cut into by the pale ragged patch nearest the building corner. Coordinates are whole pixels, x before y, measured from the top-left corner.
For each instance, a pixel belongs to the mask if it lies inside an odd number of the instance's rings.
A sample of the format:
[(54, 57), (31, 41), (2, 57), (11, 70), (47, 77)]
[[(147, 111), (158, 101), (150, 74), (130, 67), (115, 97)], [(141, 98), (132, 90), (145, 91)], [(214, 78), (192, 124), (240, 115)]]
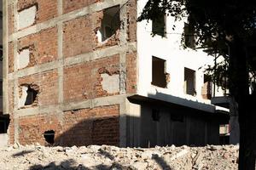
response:
[(80, 101), (108, 96), (102, 89), (102, 73), (119, 74), (119, 55), (64, 68), (64, 101)]

